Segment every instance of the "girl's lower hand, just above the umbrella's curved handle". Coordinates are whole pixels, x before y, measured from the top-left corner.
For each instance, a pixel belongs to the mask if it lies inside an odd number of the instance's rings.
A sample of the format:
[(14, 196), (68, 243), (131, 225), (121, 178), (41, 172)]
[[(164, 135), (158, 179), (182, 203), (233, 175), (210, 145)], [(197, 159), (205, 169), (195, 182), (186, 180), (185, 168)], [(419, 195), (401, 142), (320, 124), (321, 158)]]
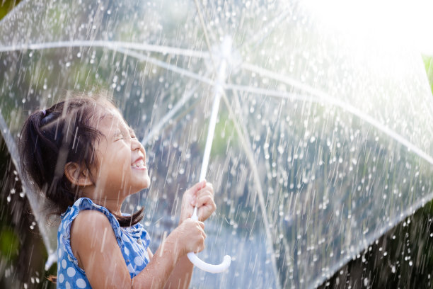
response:
[(192, 251), (198, 253), (204, 249), (204, 239), (206, 239), (204, 222), (187, 219), (175, 228), (167, 238), (178, 244), (180, 256)]

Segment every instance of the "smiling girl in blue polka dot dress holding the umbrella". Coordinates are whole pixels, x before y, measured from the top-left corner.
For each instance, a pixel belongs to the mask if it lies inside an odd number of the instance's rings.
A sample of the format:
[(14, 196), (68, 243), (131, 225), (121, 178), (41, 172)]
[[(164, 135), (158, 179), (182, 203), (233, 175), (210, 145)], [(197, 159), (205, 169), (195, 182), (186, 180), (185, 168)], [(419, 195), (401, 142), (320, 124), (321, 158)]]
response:
[[(57, 288), (187, 288), (189, 251), (204, 249), (204, 224), (215, 210), (212, 184), (184, 193), (180, 224), (155, 254), (123, 200), (148, 188), (146, 152), (105, 98), (76, 97), (36, 111), (23, 125), (21, 166), (61, 214)], [(200, 221), (189, 219), (197, 204)]]

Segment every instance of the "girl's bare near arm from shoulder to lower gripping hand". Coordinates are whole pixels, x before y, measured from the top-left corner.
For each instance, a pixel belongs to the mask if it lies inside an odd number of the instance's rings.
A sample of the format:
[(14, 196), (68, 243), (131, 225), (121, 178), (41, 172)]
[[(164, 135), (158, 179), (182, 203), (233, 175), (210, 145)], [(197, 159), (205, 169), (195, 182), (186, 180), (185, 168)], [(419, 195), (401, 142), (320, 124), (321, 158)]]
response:
[(79, 213), (71, 228), (71, 247), (92, 288), (163, 288), (175, 264), (187, 251), (197, 248), (201, 251), (205, 238), (203, 226), (190, 221), (177, 227), (146, 268), (132, 280), (110, 222), (101, 212)]

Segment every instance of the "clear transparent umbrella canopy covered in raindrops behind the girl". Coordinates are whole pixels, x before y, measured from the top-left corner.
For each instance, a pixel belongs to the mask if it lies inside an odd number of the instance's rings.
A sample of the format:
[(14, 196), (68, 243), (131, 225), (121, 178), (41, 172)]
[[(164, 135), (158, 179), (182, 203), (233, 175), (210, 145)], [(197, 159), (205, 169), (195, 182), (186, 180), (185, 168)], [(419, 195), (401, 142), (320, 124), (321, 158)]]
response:
[[(195, 271), (192, 285), (316, 287), (432, 198), (433, 107), (405, 39), (323, 25), (310, 7), (23, 1), (0, 23), (8, 149), (16, 161), (28, 113), (67, 91), (109, 89), (146, 147), (152, 185), (125, 210), (145, 206), (156, 249), (200, 178), (221, 97), (206, 173), (217, 212), (200, 257), (233, 262), (220, 275)], [(42, 201), (25, 196), (53, 253)]]

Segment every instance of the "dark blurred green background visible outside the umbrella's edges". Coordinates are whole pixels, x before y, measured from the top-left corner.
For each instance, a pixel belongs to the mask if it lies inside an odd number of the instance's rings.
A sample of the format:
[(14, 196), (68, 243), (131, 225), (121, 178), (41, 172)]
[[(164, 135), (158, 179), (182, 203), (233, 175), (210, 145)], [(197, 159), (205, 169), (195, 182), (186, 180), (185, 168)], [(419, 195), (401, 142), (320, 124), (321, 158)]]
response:
[[(2, 0), (0, 19), (18, 3)], [(432, 55), (426, 50), (422, 59), (433, 91)], [(46, 278), (57, 268), (44, 269), (47, 251), (1, 136), (0, 178), (0, 288), (55, 288)], [(321, 288), (433, 288), (432, 215), (430, 201), (357, 254)]]

